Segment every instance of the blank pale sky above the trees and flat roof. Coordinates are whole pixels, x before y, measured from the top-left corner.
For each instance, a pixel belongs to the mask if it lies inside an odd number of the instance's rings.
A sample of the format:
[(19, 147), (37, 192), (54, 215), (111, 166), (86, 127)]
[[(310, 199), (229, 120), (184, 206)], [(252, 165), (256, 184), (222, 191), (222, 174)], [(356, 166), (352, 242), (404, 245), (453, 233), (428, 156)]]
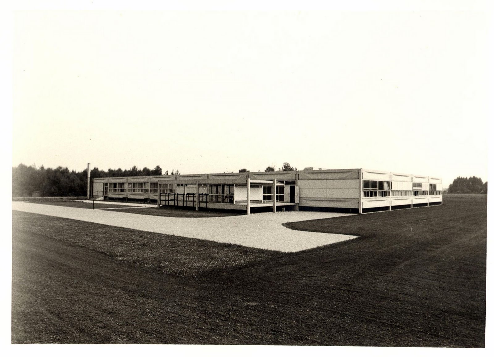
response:
[(488, 179), (481, 11), (19, 11), (12, 165)]

